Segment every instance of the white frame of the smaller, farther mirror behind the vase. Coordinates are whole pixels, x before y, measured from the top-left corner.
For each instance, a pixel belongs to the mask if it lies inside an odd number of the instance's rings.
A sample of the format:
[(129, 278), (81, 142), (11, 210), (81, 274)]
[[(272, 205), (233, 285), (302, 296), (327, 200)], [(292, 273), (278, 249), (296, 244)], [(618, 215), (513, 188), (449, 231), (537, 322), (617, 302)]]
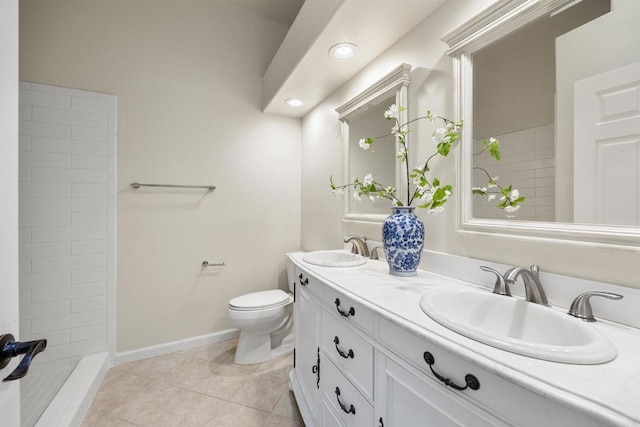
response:
[[(342, 182), (351, 182), (352, 177), (349, 176), (349, 121), (353, 120), (374, 107), (378, 107), (384, 100), (395, 96), (395, 104), (407, 107), (399, 114), (400, 123), (406, 123), (408, 117), (408, 86), (409, 86), (409, 74), (411, 72), (411, 65), (401, 64), (389, 74), (378, 80), (376, 83), (368, 87), (366, 90), (351, 98), (349, 101), (336, 108), (338, 113), (338, 120), (341, 124), (341, 138), (342, 138)], [(365, 135), (363, 135), (365, 136)], [(398, 151), (396, 143), (395, 152)], [(403, 195), (403, 191), (406, 188), (406, 177), (401, 171), (401, 163), (398, 159), (394, 159), (396, 166), (396, 179), (395, 187), (399, 196)], [(382, 214), (366, 214), (366, 213), (353, 213), (350, 212), (350, 207), (354, 203), (361, 203), (355, 201), (350, 195), (345, 195), (343, 198), (343, 220), (347, 221), (367, 221), (367, 222), (384, 222), (388, 215)], [(389, 204), (391, 206), (391, 204)]]

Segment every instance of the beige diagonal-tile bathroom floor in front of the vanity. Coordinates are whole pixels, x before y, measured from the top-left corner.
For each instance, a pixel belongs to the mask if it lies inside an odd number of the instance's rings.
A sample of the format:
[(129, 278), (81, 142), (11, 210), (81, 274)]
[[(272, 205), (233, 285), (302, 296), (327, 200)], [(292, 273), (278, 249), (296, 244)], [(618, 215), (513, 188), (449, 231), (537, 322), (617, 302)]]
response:
[(236, 365), (237, 340), (110, 369), (83, 427), (303, 427), (289, 391), (293, 356)]

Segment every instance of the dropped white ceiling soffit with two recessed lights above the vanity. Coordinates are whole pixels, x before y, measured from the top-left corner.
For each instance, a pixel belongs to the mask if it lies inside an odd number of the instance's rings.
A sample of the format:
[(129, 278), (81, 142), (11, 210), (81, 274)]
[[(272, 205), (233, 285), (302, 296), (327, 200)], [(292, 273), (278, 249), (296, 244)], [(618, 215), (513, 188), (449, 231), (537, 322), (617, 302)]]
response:
[[(263, 76), (263, 110), (303, 117), (444, 1), (306, 0)], [(359, 47), (354, 59), (329, 57), (342, 42)], [(292, 109), (287, 98), (305, 104)]]

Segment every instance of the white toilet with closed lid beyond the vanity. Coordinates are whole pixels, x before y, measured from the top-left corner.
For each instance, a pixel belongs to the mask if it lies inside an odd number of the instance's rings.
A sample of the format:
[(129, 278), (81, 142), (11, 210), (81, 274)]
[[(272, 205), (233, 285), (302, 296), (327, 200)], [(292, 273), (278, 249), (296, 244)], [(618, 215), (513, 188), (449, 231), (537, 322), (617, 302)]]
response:
[(293, 351), (293, 296), (280, 289), (253, 292), (229, 301), (231, 324), (240, 329), (233, 361), (262, 363)]

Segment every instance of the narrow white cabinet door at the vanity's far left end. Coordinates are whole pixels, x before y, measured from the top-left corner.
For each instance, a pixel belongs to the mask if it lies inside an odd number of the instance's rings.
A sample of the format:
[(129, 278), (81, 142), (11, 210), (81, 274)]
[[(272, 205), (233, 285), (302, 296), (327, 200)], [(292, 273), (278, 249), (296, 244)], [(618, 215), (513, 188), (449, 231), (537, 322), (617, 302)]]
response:
[[(295, 374), (303, 396), (297, 396), (302, 415), (309, 412), (312, 420), (305, 419), (308, 425), (316, 425), (320, 401), (320, 305), (313, 294), (296, 284), (294, 304), (295, 325)], [(300, 398), (302, 397), (303, 402)]]

